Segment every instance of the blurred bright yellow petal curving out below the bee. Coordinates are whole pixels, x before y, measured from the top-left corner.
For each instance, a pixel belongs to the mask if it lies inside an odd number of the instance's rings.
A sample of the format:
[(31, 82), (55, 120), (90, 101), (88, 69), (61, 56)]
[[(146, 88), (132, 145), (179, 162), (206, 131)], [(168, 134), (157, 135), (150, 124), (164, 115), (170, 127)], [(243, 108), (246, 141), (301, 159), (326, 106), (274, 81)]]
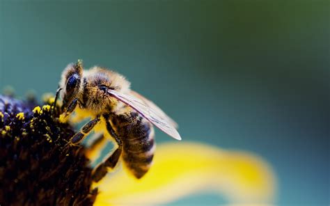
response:
[(159, 145), (141, 179), (115, 171), (95, 184), (95, 205), (157, 205), (198, 192), (218, 193), (228, 203), (272, 203), (275, 178), (267, 163), (249, 152), (202, 143)]

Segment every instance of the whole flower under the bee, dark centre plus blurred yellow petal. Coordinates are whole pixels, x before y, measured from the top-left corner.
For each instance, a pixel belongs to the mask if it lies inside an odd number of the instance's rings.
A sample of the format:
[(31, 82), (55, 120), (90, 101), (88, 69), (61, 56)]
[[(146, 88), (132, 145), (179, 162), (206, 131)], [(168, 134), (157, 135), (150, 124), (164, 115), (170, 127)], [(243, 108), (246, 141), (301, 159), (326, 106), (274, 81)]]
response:
[(120, 165), (93, 182), (90, 163), (100, 147), (70, 146), (74, 129), (58, 121), (53, 103), (0, 95), (0, 205), (157, 205), (202, 191), (228, 203), (274, 200), (276, 180), (265, 161), (203, 143), (160, 144), (141, 180)]

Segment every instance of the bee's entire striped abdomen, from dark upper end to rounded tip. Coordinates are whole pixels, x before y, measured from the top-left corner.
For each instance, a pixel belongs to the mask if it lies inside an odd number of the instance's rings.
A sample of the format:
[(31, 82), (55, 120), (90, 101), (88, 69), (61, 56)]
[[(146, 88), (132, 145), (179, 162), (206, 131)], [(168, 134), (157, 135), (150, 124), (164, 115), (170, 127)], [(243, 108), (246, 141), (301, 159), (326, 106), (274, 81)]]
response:
[(145, 175), (155, 152), (154, 130), (151, 123), (136, 111), (118, 115), (112, 120), (123, 142), (123, 161), (136, 178)]

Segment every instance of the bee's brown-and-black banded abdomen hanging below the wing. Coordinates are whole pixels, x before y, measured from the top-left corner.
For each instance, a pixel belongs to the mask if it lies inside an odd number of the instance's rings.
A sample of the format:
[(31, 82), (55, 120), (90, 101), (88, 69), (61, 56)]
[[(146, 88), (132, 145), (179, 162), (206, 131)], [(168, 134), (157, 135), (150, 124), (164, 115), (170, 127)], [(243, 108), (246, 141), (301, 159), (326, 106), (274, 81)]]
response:
[(155, 152), (154, 130), (148, 120), (127, 126), (127, 136), (123, 137), (123, 160), (136, 178), (145, 175)]

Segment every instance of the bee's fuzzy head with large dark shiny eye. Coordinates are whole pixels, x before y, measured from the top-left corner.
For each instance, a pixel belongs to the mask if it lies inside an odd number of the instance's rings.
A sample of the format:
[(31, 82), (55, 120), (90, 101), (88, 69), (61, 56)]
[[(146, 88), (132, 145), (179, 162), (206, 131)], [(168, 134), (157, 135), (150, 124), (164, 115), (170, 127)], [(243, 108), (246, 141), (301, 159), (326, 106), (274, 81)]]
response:
[(70, 63), (62, 72), (60, 81), (62, 108), (66, 108), (70, 102), (77, 97), (81, 86), (82, 63)]

